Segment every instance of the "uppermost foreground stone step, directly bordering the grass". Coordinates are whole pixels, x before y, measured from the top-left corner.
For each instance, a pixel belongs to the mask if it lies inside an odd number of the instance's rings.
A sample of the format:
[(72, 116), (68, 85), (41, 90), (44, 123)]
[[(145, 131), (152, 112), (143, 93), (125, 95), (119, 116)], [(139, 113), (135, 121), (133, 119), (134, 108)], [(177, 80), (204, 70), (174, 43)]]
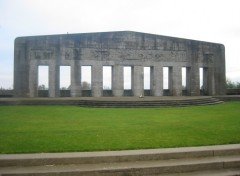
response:
[(40, 154), (1, 154), (0, 167), (61, 164), (98, 164), (240, 155), (240, 144), (166, 149), (70, 152)]

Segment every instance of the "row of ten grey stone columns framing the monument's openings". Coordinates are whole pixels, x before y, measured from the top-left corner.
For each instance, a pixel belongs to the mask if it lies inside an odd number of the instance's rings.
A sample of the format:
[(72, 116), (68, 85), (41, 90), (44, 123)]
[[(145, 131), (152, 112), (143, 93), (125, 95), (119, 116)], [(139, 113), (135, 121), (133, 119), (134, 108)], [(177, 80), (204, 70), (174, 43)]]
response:
[[(60, 65), (54, 63), (49, 66), (49, 97), (60, 96)], [(79, 62), (72, 63), (71, 67), (71, 96), (79, 97), (81, 93), (81, 66)], [(91, 91), (93, 97), (103, 96), (103, 65), (96, 64), (92, 67)], [(132, 67), (132, 93), (133, 96), (144, 95), (144, 66)], [(163, 67), (150, 66), (150, 90), (152, 96), (163, 96)], [(168, 67), (168, 89), (170, 95), (182, 95), (182, 66)], [(124, 95), (124, 65), (112, 65), (112, 95)], [(29, 92), (30, 97), (38, 96), (38, 64), (30, 64)], [(203, 88), (208, 94), (213, 94), (214, 87), (212, 68), (203, 69)], [(186, 90), (188, 95), (200, 95), (199, 67), (193, 69), (186, 67)]]

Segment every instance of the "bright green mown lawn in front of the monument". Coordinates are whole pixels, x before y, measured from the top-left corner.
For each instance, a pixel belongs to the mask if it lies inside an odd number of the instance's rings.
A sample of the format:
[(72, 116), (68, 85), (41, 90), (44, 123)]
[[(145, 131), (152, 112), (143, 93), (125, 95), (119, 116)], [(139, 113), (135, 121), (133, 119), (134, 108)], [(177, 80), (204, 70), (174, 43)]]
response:
[(178, 108), (0, 106), (0, 153), (240, 143), (240, 102)]

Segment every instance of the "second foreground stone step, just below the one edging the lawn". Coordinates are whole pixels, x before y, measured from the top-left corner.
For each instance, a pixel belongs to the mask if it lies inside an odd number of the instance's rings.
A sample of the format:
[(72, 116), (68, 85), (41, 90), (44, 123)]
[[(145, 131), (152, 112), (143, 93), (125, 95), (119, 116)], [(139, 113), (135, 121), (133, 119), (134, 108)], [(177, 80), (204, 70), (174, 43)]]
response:
[(205, 157), (194, 159), (172, 159), (135, 161), (98, 164), (68, 164), (44, 165), (31, 167), (2, 167), (0, 173), (4, 175), (89, 175), (89, 176), (116, 176), (116, 175), (156, 175), (166, 173), (188, 173), (202, 170), (223, 170), (240, 168), (240, 155)]

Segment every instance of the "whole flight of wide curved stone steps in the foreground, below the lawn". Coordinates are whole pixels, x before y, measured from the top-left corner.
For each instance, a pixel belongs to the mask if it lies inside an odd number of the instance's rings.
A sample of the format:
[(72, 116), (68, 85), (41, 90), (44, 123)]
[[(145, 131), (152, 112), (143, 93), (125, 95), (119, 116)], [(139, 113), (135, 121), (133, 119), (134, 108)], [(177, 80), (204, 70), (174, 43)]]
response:
[(0, 155), (1, 176), (234, 176), (240, 144), (107, 152)]

